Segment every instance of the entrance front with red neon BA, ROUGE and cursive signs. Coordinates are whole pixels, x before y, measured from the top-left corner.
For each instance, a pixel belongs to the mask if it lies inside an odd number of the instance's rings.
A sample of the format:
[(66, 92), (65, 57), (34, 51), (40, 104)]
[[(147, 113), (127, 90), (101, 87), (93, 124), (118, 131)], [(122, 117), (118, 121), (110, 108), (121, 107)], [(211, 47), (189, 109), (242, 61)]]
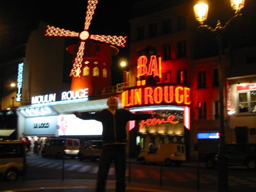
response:
[(137, 62), (136, 86), (122, 92), (122, 107), (133, 113), (159, 113), (160, 118), (130, 121), (129, 155), (149, 152), (149, 144), (184, 143), (189, 154), (190, 87), (160, 84), (161, 58), (141, 56)]

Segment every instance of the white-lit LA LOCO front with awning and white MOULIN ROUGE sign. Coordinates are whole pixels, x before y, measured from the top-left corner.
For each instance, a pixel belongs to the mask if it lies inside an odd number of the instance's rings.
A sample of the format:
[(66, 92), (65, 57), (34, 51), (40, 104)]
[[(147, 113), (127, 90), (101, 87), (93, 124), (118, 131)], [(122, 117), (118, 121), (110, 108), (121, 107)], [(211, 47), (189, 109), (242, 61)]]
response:
[[(87, 89), (34, 96), (31, 105), (18, 107), (18, 138), (27, 138), (34, 143), (46, 142), (49, 138), (77, 138), (84, 144), (87, 140), (99, 140), (102, 125), (96, 120), (81, 120), (73, 111), (95, 112), (107, 108), (107, 98), (89, 100)], [(121, 107), (121, 102), (119, 102)]]

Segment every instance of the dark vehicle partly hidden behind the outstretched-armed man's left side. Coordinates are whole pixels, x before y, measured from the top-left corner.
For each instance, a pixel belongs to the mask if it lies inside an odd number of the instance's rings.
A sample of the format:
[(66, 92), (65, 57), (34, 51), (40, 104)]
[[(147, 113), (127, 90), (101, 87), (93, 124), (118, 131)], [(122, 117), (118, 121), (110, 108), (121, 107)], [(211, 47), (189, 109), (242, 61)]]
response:
[(89, 140), (87, 143), (79, 150), (78, 158), (83, 161), (84, 159), (91, 159), (93, 161), (97, 160), (102, 151), (102, 141), (101, 140)]

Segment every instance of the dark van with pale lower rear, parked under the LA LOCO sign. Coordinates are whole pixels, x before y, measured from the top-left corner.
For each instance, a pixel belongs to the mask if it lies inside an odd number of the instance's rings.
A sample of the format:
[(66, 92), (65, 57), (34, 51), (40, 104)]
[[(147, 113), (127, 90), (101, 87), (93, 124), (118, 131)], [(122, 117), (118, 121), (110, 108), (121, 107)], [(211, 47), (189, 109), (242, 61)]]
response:
[(75, 158), (79, 152), (80, 140), (71, 138), (54, 138), (49, 139), (41, 152), (43, 157), (56, 156), (62, 158), (63, 156), (70, 156)]

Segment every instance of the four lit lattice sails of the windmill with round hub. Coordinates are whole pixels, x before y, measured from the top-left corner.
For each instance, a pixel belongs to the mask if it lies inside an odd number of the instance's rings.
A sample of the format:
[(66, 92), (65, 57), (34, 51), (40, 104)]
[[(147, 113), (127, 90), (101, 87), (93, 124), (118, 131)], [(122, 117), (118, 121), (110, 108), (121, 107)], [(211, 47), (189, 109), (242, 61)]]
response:
[(68, 36), (68, 37), (79, 37), (79, 48), (76, 53), (75, 59), (73, 60), (73, 68), (70, 72), (71, 77), (80, 77), (82, 61), (85, 49), (85, 40), (93, 39), (96, 41), (109, 43), (118, 47), (125, 47), (127, 36), (111, 36), (111, 35), (90, 35), (88, 32), (91, 20), (96, 9), (98, 0), (88, 0), (87, 12), (85, 16), (85, 28), (81, 33), (60, 29), (59, 27), (47, 25), (45, 36)]

